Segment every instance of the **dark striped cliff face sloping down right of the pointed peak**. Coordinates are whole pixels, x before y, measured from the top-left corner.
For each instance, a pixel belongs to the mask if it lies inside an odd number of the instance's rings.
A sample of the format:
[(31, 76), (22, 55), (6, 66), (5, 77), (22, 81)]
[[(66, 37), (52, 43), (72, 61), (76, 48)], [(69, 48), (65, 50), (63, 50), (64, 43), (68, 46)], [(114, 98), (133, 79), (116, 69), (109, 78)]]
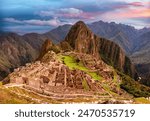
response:
[(105, 38), (100, 38), (99, 44), (99, 53), (106, 63), (114, 66), (132, 78), (137, 78), (134, 65), (116, 43), (106, 40)]

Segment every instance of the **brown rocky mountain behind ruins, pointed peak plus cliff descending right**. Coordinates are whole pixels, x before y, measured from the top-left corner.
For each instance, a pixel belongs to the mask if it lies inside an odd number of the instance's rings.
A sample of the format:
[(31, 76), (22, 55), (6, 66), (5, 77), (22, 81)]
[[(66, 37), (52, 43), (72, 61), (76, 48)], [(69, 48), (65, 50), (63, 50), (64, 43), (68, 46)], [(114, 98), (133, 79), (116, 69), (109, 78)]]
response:
[(97, 59), (102, 58), (119, 71), (135, 78), (134, 66), (124, 51), (116, 43), (96, 36), (84, 22), (79, 21), (72, 26), (65, 41), (76, 52), (92, 54)]

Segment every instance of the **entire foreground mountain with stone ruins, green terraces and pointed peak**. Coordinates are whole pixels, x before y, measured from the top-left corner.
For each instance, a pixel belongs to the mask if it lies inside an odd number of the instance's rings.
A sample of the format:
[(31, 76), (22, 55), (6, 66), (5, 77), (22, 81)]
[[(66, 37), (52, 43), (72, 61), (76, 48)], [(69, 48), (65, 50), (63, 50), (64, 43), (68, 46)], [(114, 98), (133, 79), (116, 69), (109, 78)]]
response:
[(35, 62), (2, 83), (3, 94), (13, 98), (0, 96), (0, 103), (150, 103), (150, 88), (138, 82), (124, 51), (82, 21), (62, 42), (47, 39)]

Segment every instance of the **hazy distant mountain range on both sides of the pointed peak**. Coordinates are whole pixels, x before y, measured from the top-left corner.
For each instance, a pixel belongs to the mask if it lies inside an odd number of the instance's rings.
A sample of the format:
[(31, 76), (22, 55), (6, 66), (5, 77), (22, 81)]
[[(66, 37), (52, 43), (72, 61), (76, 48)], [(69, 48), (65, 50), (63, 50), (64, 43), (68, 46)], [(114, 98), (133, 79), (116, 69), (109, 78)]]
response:
[[(103, 21), (88, 24), (88, 27), (96, 35), (117, 43), (137, 65), (137, 70), (141, 76), (150, 74), (150, 67), (147, 66), (150, 64), (150, 28), (137, 30), (132, 26)], [(1, 49), (0, 52), (2, 78), (13, 68), (35, 60), (45, 39), (49, 38), (54, 43), (63, 41), (70, 28), (71, 25), (63, 25), (44, 34), (30, 33), (23, 36), (15, 33), (0, 34), (0, 47), (4, 48), (7, 43), (7, 48)], [(24, 50), (24, 52), (20, 50)], [(141, 69), (148, 70), (148, 72), (143, 72)]]

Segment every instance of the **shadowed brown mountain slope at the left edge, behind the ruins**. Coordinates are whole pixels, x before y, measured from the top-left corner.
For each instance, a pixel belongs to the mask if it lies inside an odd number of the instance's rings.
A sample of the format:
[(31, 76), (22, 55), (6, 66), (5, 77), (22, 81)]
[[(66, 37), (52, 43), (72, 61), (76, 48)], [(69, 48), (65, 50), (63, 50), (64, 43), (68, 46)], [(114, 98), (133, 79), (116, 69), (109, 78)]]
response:
[(0, 72), (1, 79), (13, 71), (37, 58), (37, 52), (30, 44), (15, 33), (0, 36)]

